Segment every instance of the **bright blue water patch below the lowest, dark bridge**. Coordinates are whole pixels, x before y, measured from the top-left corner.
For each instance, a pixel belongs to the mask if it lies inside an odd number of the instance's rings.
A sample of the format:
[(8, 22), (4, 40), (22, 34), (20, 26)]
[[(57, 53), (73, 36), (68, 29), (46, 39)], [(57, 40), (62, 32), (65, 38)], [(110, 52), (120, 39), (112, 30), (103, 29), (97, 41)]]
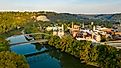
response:
[(29, 57), (27, 60), (31, 68), (61, 68), (60, 62), (46, 53)]

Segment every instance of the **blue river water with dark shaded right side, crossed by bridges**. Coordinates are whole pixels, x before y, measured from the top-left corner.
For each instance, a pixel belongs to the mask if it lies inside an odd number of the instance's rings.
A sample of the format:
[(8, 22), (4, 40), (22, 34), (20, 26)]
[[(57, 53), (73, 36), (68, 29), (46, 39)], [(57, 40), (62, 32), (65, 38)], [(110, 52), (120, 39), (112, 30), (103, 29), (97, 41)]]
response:
[[(9, 37), (10, 43), (27, 41), (23, 35)], [(61, 52), (49, 45), (41, 44), (19, 44), (10, 47), (12, 52), (26, 55), (44, 50), (48, 52), (26, 57), (30, 68), (96, 68), (94, 66), (82, 64), (79, 59)]]

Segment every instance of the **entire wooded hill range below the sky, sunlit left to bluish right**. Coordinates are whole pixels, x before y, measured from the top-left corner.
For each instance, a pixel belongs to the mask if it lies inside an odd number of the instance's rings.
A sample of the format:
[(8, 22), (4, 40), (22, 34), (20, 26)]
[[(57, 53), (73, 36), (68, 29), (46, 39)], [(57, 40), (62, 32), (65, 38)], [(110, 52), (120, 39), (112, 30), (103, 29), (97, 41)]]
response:
[[(38, 16), (44, 15), (50, 23), (90, 23), (107, 25), (121, 20), (121, 14), (70, 14), (70, 13), (56, 13), (56, 12), (0, 12), (0, 34), (8, 32), (19, 27), (35, 21)], [(33, 18), (32, 18), (33, 17)], [(106, 24), (107, 23), (107, 24)]]

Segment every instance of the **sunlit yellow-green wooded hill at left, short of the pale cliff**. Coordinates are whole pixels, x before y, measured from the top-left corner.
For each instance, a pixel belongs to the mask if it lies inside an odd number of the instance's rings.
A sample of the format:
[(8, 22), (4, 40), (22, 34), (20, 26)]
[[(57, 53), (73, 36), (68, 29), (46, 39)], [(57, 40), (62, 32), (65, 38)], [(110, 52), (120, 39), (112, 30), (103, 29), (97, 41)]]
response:
[(23, 26), (31, 16), (32, 14), (28, 12), (0, 12), (0, 33)]

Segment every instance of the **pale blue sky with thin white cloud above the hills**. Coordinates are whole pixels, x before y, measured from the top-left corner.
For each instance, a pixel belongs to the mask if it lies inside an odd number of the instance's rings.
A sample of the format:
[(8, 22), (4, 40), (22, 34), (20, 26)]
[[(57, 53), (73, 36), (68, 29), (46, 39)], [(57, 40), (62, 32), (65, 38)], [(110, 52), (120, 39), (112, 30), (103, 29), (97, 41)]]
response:
[(121, 13), (121, 0), (0, 0), (0, 11), (53, 11), (74, 14)]

